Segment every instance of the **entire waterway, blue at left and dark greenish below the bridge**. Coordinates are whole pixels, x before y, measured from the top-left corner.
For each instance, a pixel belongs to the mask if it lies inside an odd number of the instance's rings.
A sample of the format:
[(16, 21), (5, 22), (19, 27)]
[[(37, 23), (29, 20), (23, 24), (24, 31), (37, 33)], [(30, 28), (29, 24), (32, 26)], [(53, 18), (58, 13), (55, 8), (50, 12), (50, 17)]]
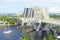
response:
[[(10, 27), (10, 28), (9, 28)], [(27, 32), (27, 30), (32, 29), (32, 28), (23, 28), (21, 29), (17, 29), (16, 26), (9, 26), (6, 27), (6, 30), (11, 30), (12, 32), (9, 34), (4, 34), (3, 32), (5, 31), (5, 27), (1, 27), (0, 28), (0, 40), (18, 40), (22, 33)], [(45, 33), (42, 33), (42, 30), (37, 31), (30, 31), (27, 32), (27, 37), (31, 38), (31, 40), (47, 40), (47, 36)], [(45, 35), (45, 38), (43, 38)]]

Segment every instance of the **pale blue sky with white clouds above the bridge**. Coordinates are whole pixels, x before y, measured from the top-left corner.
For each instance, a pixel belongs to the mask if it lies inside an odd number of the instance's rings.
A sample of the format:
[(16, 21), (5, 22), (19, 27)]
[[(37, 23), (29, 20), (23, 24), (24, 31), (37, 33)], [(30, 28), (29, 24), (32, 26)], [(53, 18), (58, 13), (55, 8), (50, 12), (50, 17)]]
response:
[(0, 13), (23, 12), (34, 6), (47, 8), (48, 13), (60, 13), (60, 0), (0, 0)]

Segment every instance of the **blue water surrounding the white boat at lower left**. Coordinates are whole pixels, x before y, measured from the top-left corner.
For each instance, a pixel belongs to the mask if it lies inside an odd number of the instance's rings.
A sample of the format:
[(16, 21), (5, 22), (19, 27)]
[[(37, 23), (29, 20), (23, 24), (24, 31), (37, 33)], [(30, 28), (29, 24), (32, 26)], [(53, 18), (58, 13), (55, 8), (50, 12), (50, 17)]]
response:
[(20, 29), (17, 29), (15, 26), (6, 27), (6, 30), (11, 30), (9, 34), (4, 34), (5, 28), (0, 28), (0, 40), (18, 40), (22, 32)]

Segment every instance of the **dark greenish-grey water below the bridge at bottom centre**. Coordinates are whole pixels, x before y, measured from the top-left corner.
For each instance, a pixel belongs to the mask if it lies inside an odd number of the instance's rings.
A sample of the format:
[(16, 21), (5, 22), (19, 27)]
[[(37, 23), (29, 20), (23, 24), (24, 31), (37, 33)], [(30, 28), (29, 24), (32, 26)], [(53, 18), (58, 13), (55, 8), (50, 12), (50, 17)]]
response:
[(31, 38), (31, 40), (47, 40), (47, 36), (45, 36), (45, 38), (43, 38), (43, 34), (41, 33), (41, 31), (32, 31), (27, 33), (27, 37)]

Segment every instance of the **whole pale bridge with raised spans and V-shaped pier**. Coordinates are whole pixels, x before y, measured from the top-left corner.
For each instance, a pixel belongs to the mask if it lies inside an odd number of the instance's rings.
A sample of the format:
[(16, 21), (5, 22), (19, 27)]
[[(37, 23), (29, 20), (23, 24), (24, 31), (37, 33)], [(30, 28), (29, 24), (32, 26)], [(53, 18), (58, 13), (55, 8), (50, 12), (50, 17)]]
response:
[(60, 22), (49, 17), (48, 11), (46, 8), (41, 7), (32, 7), (24, 8), (23, 12), (24, 17), (21, 18), (22, 26), (29, 25), (32, 23), (34, 29), (39, 31), (47, 30), (49, 27), (52, 27), (52, 24), (60, 25)]

